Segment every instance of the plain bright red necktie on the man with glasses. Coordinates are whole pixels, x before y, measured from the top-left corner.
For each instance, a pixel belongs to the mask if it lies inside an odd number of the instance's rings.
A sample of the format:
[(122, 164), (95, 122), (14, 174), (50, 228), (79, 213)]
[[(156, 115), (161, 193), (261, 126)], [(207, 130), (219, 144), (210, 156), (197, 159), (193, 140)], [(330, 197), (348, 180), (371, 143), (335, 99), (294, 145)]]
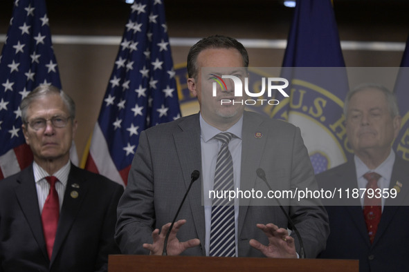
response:
[(55, 233), (57, 233), (58, 217), (60, 217), (60, 202), (58, 201), (57, 190), (55, 190), (55, 182), (57, 177), (46, 177), (50, 184), (50, 191), (42, 212), (42, 222), (44, 238), (46, 239), (48, 258), (51, 260), (51, 253), (53, 253), (53, 246), (55, 240)]

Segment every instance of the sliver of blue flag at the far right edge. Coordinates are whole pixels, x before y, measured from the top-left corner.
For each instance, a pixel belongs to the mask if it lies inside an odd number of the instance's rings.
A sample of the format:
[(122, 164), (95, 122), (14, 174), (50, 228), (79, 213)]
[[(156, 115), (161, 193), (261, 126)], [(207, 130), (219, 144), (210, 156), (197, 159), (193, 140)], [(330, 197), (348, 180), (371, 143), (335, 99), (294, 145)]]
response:
[(394, 140), (393, 149), (397, 155), (409, 161), (409, 37), (403, 52), (401, 68), (394, 86), (398, 99), (399, 113), (402, 117), (401, 130)]

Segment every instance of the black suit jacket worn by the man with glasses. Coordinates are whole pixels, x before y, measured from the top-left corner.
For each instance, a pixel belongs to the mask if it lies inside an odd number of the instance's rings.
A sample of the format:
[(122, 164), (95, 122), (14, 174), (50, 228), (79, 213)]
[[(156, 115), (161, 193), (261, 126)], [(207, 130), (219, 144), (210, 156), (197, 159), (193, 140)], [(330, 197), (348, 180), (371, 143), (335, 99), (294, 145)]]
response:
[(0, 180), (0, 271), (107, 271), (108, 254), (120, 252), (113, 233), (122, 192), (119, 184), (71, 164), (49, 260), (33, 166)]

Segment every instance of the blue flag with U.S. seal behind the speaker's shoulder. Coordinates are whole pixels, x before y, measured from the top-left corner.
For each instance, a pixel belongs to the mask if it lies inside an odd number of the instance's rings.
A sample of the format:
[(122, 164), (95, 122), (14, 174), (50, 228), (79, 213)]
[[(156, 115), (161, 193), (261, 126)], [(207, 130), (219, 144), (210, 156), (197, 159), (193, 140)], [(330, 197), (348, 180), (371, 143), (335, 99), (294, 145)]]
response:
[(287, 41), (280, 93), (272, 117), (299, 126), (316, 174), (346, 162), (343, 99), (349, 89), (334, 10), (330, 0), (299, 0)]

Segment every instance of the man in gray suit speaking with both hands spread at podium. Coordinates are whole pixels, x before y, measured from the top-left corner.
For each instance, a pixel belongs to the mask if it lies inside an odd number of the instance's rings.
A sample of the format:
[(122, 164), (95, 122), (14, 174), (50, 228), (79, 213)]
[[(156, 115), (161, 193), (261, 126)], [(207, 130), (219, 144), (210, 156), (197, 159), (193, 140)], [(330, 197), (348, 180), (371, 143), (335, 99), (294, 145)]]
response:
[[(210, 67), (210, 72), (202, 68)], [(200, 113), (149, 128), (140, 135), (125, 193), (118, 204), (116, 241), (122, 253), (156, 254), (187, 190), (191, 173), (201, 170), (201, 182), (192, 184), (167, 243), (168, 255), (213, 255), (212, 202), (217, 150), (215, 135), (228, 132), (233, 157), (235, 190), (251, 192), (266, 184), (256, 170), (264, 169), (275, 190), (317, 188), (313, 168), (300, 129), (291, 124), (245, 112), (235, 99), (233, 84), (209, 95), (213, 79), (221, 75), (246, 77), (248, 55), (241, 43), (230, 37), (201, 39), (188, 55), (188, 86), (199, 100)], [(213, 69), (213, 70), (212, 70)], [(215, 75), (216, 74), (216, 75)], [(317, 200), (297, 205), (282, 200), (284, 209), (300, 232), (308, 258), (324, 249), (328, 235), (327, 214)], [(209, 204), (210, 203), (210, 204)], [(263, 205), (264, 204), (264, 205)], [(234, 202), (235, 250), (233, 256), (296, 258), (298, 237), (275, 200), (257, 204), (257, 197)], [(161, 231), (159, 231), (161, 229)], [(226, 235), (227, 236), (227, 235)]]

